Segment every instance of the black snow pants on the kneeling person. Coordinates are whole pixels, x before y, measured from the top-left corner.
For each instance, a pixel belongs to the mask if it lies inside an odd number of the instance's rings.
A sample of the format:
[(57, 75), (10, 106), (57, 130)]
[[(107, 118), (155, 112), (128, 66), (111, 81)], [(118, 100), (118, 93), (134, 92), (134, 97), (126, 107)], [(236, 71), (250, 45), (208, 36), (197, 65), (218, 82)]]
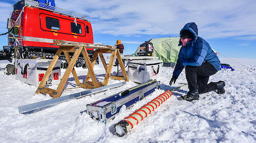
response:
[(201, 66), (186, 66), (185, 70), (189, 91), (198, 89), (199, 94), (201, 94), (216, 90), (216, 83), (207, 84), (209, 77), (218, 71), (212, 64), (203, 62)]

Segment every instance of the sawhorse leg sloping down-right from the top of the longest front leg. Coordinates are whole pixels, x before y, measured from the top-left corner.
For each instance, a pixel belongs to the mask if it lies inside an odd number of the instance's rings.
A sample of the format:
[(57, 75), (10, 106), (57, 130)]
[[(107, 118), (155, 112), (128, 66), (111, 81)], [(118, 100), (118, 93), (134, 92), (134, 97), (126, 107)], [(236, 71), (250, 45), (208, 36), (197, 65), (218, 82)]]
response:
[(91, 65), (91, 61), (90, 61), (88, 52), (85, 48), (83, 48), (83, 50), (82, 50), (82, 55), (83, 55), (84, 61), (86, 61), (86, 65), (87, 65), (87, 68), (88, 68), (88, 73), (90, 74), (90, 76), (92, 78), (92, 81), (93, 81), (93, 86), (95, 88), (97, 88), (97, 83), (98, 82), (96, 80), (96, 77), (95, 77), (95, 74), (94, 74), (94, 71), (93, 71), (93, 68), (92, 68), (92, 65)]

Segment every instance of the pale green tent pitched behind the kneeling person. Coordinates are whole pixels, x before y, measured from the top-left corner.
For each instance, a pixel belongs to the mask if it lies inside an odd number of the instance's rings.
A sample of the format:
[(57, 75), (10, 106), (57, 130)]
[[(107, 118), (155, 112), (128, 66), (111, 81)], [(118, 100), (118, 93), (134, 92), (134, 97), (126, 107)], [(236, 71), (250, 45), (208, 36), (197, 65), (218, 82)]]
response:
[[(178, 46), (179, 40), (179, 37), (151, 39), (149, 42), (153, 44), (153, 56), (159, 57), (159, 59), (163, 60), (163, 62), (177, 63), (179, 51), (181, 49), (181, 46)], [(143, 44), (141, 44), (139, 47), (141, 46), (143, 46)], [(139, 53), (139, 47), (135, 52), (136, 54)]]

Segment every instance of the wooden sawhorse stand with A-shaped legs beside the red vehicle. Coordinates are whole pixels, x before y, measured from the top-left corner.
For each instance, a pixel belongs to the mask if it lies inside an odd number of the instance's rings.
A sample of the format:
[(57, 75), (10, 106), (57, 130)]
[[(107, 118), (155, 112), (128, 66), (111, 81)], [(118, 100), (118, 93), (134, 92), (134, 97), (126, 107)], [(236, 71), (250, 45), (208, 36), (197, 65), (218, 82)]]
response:
[[(59, 45), (59, 44), (57, 44), (57, 45)], [(88, 52), (86, 50), (87, 47), (97, 49), (94, 52), (92, 62), (90, 61)], [(60, 80), (60, 83), (59, 83), (56, 90), (44, 87), (45, 84), (46, 84), (47, 79), (49, 78), (49, 76), (51, 74), (51, 71), (52, 71), (54, 65), (56, 64), (56, 62), (57, 62), (57, 60), (58, 60), (58, 58), (59, 58), (59, 56), (62, 52), (64, 53), (64, 55), (67, 59), (67, 62), (69, 64), (66, 71), (65, 71), (65, 74), (63, 75), (62, 79)], [(70, 52), (74, 52), (74, 55), (73, 55), (72, 59), (70, 58), (70, 55), (69, 55)], [(86, 81), (84, 83), (80, 83), (80, 81), (77, 77), (75, 68), (74, 68), (75, 63), (76, 63), (80, 53), (82, 53), (84, 61), (86, 62), (86, 65), (87, 65), (87, 68), (88, 68), (88, 74), (87, 74), (87, 77), (86, 77)], [(106, 65), (106, 62), (105, 62), (105, 59), (104, 59), (102, 53), (112, 53), (111, 59), (110, 59), (110, 62), (109, 62), (109, 66)], [(100, 57), (100, 59), (103, 63), (105, 71), (106, 71), (103, 83), (97, 82), (97, 79), (96, 79), (94, 71), (93, 71), (93, 67), (95, 65), (95, 62), (96, 62), (96, 59), (97, 59), (98, 55), (99, 55), (99, 57)], [(117, 59), (118, 59), (118, 62), (120, 64), (120, 67), (121, 67), (121, 70), (122, 70), (123, 77), (111, 76), (110, 75), (113, 64), (114, 64), (115, 57), (117, 57)], [(118, 49), (113, 49), (113, 48), (111, 48), (111, 46), (102, 47), (102, 46), (95, 46), (95, 45), (89, 45), (89, 44), (88, 45), (61, 44), (59, 49), (57, 50), (55, 56), (53, 57), (53, 60), (52, 60), (51, 64), (49, 65), (45, 76), (42, 78), (42, 80), (41, 80), (41, 82), (40, 82), (40, 84), (39, 84), (39, 86), (36, 90), (36, 93), (37, 94), (38, 93), (45, 93), (45, 94), (49, 94), (53, 98), (58, 98), (60, 96), (61, 92), (63, 91), (63, 88), (64, 88), (65, 84), (67, 83), (67, 80), (68, 80), (69, 75), (71, 74), (71, 72), (72, 72), (72, 75), (75, 79), (75, 82), (76, 82), (77, 86), (82, 87), (82, 88), (92, 89), (92, 88), (98, 88), (98, 87), (106, 86), (106, 85), (108, 85), (109, 78), (129, 81), (128, 76), (127, 76), (126, 71), (125, 71), (125, 68), (124, 68), (124, 65), (122, 63), (120, 52), (119, 52)], [(90, 79), (92, 79), (92, 81), (89, 81)]]

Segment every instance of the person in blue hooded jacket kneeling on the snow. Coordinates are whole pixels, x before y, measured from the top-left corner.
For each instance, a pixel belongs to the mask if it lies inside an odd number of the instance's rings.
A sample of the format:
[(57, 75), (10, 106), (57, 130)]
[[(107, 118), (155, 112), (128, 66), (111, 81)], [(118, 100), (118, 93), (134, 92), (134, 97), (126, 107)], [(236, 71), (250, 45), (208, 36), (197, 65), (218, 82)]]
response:
[(209, 76), (220, 70), (220, 60), (210, 45), (203, 38), (198, 37), (196, 23), (187, 23), (180, 31), (179, 45), (182, 47), (169, 84), (175, 83), (185, 67), (189, 91), (181, 98), (186, 101), (193, 101), (199, 99), (200, 93), (212, 90), (217, 90), (219, 94), (224, 93), (224, 81), (207, 84)]

